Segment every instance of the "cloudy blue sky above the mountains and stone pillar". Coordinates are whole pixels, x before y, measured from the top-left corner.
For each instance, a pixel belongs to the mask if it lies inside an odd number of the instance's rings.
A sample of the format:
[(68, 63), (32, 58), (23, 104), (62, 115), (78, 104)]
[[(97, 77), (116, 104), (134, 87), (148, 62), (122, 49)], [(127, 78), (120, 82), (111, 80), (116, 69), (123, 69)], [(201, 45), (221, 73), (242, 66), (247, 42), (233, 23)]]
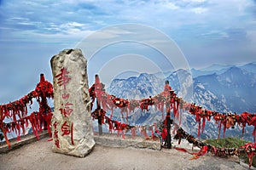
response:
[[(162, 38), (172, 43), (171, 58)], [(0, 0), (0, 103), (31, 92), (40, 73), (52, 82), (51, 57), (83, 44), (90, 84), (113, 66), (112, 78), (177, 69), (175, 59), (195, 69), (254, 62), (256, 1)]]

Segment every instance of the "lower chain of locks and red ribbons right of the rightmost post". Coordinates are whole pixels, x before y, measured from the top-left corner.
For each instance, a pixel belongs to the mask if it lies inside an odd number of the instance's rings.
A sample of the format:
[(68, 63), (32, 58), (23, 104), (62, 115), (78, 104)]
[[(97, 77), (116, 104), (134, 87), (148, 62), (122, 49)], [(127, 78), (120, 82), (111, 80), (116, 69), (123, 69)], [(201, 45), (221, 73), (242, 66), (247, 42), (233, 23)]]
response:
[[(198, 156), (203, 156), (207, 152), (211, 152), (214, 156), (245, 156), (247, 155), (249, 158), (249, 167), (251, 167), (253, 162), (253, 156), (256, 152), (256, 143), (247, 143), (238, 148), (218, 148), (213, 146), (212, 144), (207, 144), (195, 139), (189, 133), (186, 133), (183, 128), (177, 129), (177, 134), (174, 136), (174, 139), (178, 139), (178, 144), (180, 144), (181, 139), (187, 139), (190, 144), (193, 146), (201, 148), (199, 153), (193, 153), (197, 158)], [(186, 151), (183, 148), (176, 148), (177, 150)]]

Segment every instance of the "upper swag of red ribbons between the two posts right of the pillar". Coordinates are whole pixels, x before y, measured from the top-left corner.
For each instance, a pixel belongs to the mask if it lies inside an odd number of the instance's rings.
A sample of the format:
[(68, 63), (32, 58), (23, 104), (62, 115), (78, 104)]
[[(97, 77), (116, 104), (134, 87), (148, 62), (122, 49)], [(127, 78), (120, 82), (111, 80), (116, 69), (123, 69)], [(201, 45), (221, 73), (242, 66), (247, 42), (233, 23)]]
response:
[[(154, 105), (156, 110), (159, 110), (163, 114), (164, 107), (166, 105), (166, 112), (173, 110), (175, 117), (179, 117), (179, 101), (180, 99), (174, 93), (169, 84), (166, 84), (164, 91), (157, 94), (154, 97), (149, 96), (148, 99), (136, 100), (136, 99), (121, 99), (114, 95), (107, 94), (104, 89), (104, 84), (100, 82), (99, 77), (96, 75), (96, 82), (90, 87), (91, 108), (95, 99), (97, 99), (97, 105), (101, 105), (104, 111), (111, 111), (113, 116), (113, 109), (119, 107), (121, 109), (121, 115), (126, 113), (126, 119), (128, 119), (129, 112), (133, 112), (135, 108), (141, 108), (142, 111), (148, 111), (149, 105)], [(123, 116), (124, 117), (124, 116)]]

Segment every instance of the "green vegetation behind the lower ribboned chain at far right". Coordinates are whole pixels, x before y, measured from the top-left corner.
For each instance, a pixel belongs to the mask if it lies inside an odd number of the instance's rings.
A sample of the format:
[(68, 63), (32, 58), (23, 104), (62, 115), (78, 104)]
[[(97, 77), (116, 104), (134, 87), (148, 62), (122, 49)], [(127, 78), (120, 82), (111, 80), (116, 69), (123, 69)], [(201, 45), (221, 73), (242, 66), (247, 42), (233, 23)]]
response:
[[(212, 144), (215, 147), (219, 147), (219, 148), (238, 148), (240, 146), (243, 146), (246, 143), (250, 143), (247, 140), (244, 139), (240, 139), (240, 138), (225, 138), (225, 139), (207, 139), (205, 141), (207, 144)], [(256, 158), (255, 156), (253, 157), (253, 163), (252, 166), (256, 167)], [(249, 163), (249, 160), (246, 156), (239, 156), (239, 159), (241, 161), (244, 161), (245, 163)]]

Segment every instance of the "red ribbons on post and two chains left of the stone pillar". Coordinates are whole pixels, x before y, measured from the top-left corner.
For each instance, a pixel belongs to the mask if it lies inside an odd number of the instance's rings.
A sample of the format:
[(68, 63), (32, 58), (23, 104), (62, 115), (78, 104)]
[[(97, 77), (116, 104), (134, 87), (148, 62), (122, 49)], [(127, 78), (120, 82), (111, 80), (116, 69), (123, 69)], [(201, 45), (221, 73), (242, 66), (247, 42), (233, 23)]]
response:
[[(32, 105), (32, 99), (37, 99), (39, 103), (39, 112), (32, 112), (31, 115), (27, 115), (27, 106)], [(25, 128), (28, 127), (28, 122), (32, 125), (32, 131), (38, 138), (38, 131), (42, 131), (42, 126), (48, 129), (50, 132), (50, 120), (51, 110), (47, 104), (46, 98), (53, 98), (53, 86), (50, 82), (44, 79), (44, 75), (41, 74), (40, 82), (35, 90), (27, 94), (23, 98), (10, 102), (6, 105), (0, 105), (0, 129), (3, 132), (6, 143), (9, 145), (9, 139), (7, 133), (15, 132), (17, 134), (17, 140), (20, 140), (20, 130), (25, 134)], [(9, 118), (12, 122), (3, 122), (5, 118)]]

